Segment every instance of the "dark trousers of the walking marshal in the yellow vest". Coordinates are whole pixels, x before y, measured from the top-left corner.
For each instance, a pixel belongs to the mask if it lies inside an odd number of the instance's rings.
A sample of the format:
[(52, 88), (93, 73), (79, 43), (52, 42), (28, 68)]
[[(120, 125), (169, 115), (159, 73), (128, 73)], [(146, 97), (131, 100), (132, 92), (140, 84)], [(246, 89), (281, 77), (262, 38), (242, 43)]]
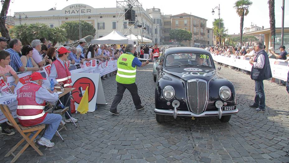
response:
[(116, 112), (116, 107), (117, 105), (121, 102), (123, 93), (125, 92), (125, 90), (128, 89), (130, 91), (130, 94), (132, 96), (132, 100), (135, 104), (135, 108), (140, 108), (140, 96), (137, 93), (137, 86), (135, 83), (133, 84), (121, 84), (117, 82), (117, 93), (116, 96), (113, 99), (113, 102), (111, 104), (111, 108), (109, 109), (112, 113)]

